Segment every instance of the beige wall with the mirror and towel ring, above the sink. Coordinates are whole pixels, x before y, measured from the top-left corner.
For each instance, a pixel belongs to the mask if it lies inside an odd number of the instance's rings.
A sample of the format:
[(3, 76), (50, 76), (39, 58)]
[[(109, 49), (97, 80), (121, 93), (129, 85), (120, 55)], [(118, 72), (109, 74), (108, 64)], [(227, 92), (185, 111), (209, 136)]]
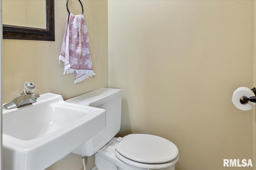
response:
[[(78, 1), (77, 1), (78, 2)], [(70, 12), (80, 14), (79, 2), (69, 1)], [(3, 40), (3, 102), (19, 96), (24, 82), (34, 82), (39, 94), (61, 94), (64, 100), (108, 86), (108, 9), (105, 0), (82, 0), (88, 25), (93, 68), (96, 75), (74, 84), (74, 75), (63, 75), (58, 57), (65, 31), (66, 0), (55, 0), (55, 41)], [(78, 12), (77, 12), (78, 11)], [(4, 16), (3, 16), (4, 17)], [(94, 165), (88, 158), (88, 169)], [(49, 169), (83, 169), (82, 158), (70, 154)]]

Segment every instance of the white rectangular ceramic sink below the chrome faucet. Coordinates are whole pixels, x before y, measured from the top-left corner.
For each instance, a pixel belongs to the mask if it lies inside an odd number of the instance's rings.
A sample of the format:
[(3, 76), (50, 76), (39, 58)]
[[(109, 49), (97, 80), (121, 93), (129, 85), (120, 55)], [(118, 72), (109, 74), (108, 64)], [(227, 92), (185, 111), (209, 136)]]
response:
[(45, 93), (34, 104), (3, 109), (2, 120), (3, 169), (42, 170), (104, 129), (106, 113)]

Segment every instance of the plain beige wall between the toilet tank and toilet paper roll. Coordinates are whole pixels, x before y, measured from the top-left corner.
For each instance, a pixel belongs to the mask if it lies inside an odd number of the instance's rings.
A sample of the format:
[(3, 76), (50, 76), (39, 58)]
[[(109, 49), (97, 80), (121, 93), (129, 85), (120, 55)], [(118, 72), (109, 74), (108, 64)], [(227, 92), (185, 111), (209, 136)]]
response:
[(252, 110), (231, 98), (253, 87), (253, 44), (254, 1), (108, 1), (108, 82), (123, 90), (119, 135), (169, 139), (177, 170), (252, 159)]

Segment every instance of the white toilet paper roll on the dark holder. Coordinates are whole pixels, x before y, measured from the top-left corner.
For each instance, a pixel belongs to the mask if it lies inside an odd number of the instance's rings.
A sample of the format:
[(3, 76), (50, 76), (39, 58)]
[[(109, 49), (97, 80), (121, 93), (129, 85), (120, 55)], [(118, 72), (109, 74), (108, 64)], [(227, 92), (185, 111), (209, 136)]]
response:
[(254, 107), (255, 103), (248, 101), (246, 104), (241, 104), (240, 99), (242, 96), (246, 96), (248, 98), (255, 96), (254, 92), (250, 88), (240, 87), (236, 89), (232, 96), (233, 104), (240, 110), (250, 110)]

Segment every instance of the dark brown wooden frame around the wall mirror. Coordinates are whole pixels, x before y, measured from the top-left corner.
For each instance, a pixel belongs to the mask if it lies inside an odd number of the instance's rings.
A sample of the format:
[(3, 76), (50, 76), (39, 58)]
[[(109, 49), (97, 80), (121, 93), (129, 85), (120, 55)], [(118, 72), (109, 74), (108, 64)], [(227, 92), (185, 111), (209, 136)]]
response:
[(3, 38), (55, 41), (54, 0), (46, 0), (45, 21), (46, 29), (3, 24)]

